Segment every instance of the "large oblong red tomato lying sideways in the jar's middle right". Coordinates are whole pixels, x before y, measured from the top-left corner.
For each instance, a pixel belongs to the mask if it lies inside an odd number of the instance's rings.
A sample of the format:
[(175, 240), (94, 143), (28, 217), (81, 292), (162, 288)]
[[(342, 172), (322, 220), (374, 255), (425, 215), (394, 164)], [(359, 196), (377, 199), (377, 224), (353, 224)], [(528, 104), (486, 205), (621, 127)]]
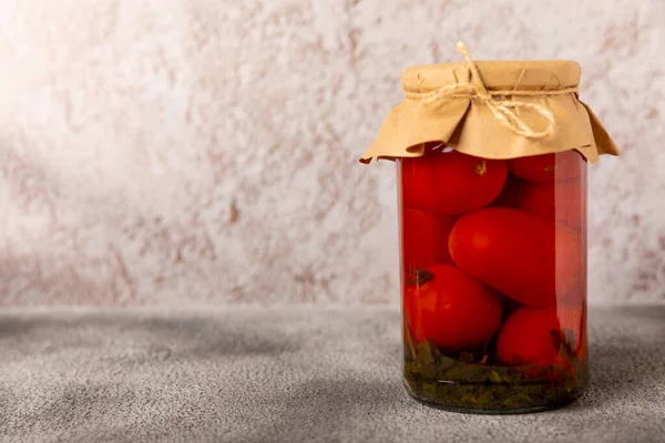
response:
[(504, 207), (461, 216), (448, 245), (462, 270), (529, 306), (553, 306), (567, 293), (585, 257), (580, 234)]

